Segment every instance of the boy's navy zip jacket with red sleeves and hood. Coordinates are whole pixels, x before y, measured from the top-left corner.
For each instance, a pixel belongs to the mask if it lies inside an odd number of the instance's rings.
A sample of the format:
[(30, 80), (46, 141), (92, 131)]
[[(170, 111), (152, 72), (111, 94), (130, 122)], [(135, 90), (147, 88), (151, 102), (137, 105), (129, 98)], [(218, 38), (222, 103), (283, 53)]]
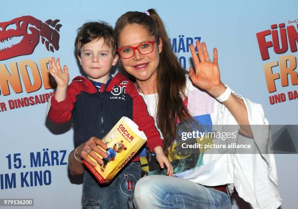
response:
[[(147, 136), (146, 147), (150, 152), (163, 147), (160, 133), (149, 115), (147, 106), (136, 87), (126, 76), (118, 73), (108, 86), (102, 84), (97, 91), (93, 83), (77, 76), (68, 86), (65, 100), (50, 99), (48, 117), (54, 123), (64, 123), (74, 118), (75, 145), (88, 141), (92, 136), (103, 138), (122, 116), (129, 117)], [(139, 160), (139, 156), (133, 161)]]

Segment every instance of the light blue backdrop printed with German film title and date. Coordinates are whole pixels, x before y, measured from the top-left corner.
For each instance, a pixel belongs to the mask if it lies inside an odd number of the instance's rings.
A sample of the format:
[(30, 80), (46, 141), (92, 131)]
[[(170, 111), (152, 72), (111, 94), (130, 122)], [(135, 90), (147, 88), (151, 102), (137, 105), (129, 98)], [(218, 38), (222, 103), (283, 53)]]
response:
[[(35, 208), (81, 208), (80, 179), (67, 171), (68, 154), (74, 149), (73, 130), (70, 124), (58, 126), (46, 119), (47, 98), (55, 91), (47, 60), (60, 57), (71, 79), (80, 75), (74, 50), (78, 27), (86, 20), (114, 25), (127, 11), (149, 8), (155, 8), (164, 20), (182, 66), (188, 69), (191, 63), (187, 46), (201, 39), (209, 53), (218, 48), (223, 82), (262, 104), (270, 124), (298, 124), (298, 98), (291, 99), (288, 93), (297, 94), (296, 68), (286, 75), (287, 86), (282, 86), (281, 78), (275, 80), (272, 93), (266, 83), (272, 80), (270, 72), (269, 76), (264, 73), (264, 64), (278, 61), (271, 74), (281, 77), (284, 56), (293, 58), (285, 66), (297, 65), (297, 49), (292, 52), (290, 48), (293, 36), (288, 31), (286, 37), (279, 36), (288, 49), (277, 54), (273, 39), (282, 29), (271, 27), (285, 23), (285, 30), (294, 27), (297, 34), (297, 0), (5, 1), (0, 14), (0, 198), (34, 198)], [(264, 42), (273, 41), (273, 47), (264, 48), (256, 34), (267, 30), (270, 34), (263, 37)], [(295, 39), (294, 45), (297, 48)], [(267, 50), (270, 58), (262, 60), (260, 49)], [(270, 97), (281, 101), (270, 104)], [(297, 155), (276, 155), (283, 209), (298, 203), (297, 160)], [(234, 200), (234, 209), (240, 207), (238, 201)]]

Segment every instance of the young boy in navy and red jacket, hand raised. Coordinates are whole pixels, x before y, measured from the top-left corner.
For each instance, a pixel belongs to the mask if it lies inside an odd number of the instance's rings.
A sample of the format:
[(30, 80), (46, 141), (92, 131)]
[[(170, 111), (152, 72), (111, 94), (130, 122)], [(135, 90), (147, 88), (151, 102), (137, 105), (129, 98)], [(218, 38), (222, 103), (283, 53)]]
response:
[[(68, 86), (69, 74), (66, 66), (62, 71), (59, 58), (50, 60), (50, 73), (55, 78), (57, 88), (50, 99), (49, 118), (55, 123), (64, 123), (74, 118), (74, 139), (77, 147), (69, 155), (69, 170), (73, 174), (84, 173), (83, 208), (100, 206), (108, 208), (131, 208), (134, 184), (141, 176), (139, 156), (134, 157), (109, 185), (100, 185), (89, 172), (84, 170), (81, 160), (94, 164), (87, 154), (103, 161), (95, 155), (98, 152), (107, 157), (97, 145), (106, 148), (98, 138), (103, 138), (122, 116), (132, 119), (147, 136), (147, 147), (155, 152), (157, 161), (172, 167), (163, 152), (163, 143), (154, 121), (147, 112), (143, 98), (134, 84), (125, 76), (110, 75), (111, 67), (118, 60), (112, 26), (106, 22), (87, 22), (77, 31), (75, 50), (86, 77), (77, 76)], [(95, 137), (97, 138), (95, 138)]]

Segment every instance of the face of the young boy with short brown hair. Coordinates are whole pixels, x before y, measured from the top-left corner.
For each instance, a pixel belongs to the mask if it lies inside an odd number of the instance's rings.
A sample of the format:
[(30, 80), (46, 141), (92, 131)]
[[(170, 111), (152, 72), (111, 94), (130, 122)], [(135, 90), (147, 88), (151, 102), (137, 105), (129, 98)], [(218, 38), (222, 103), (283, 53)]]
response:
[(103, 38), (84, 44), (77, 57), (88, 78), (101, 83), (108, 81), (111, 67), (118, 60), (118, 55), (113, 57), (112, 49), (104, 44)]

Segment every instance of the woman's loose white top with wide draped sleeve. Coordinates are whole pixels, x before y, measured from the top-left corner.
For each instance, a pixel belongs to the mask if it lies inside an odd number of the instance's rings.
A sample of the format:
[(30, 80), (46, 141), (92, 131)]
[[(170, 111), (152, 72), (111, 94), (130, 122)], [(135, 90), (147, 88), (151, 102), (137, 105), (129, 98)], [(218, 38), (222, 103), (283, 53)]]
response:
[[(142, 95), (148, 106), (149, 114), (156, 116), (157, 95)], [(203, 155), (203, 163), (190, 170), (176, 173), (174, 176), (184, 178), (206, 186), (218, 186), (228, 184), (228, 189), (233, 192), (236, 188), (239, 196), (248, 202), (254, 209), (277, 209), (282, 202), (280, 196), (277, 171), (274, 154), (270, 154), (270, 132), (268, 121), (264, 117), (260, 104), (237, 95), (245, 103), (248, 121), (251, 126), (254, 141), (238, 135), (237, 144), (253, 144), (256, 154), (234, 153), (227, 150), (226, 153), (214, 154), (213, 149), (207, 150)], [(222, 131), (237, 124), (233, 115), (227, 108), (205, 92), (194, 87), (187, 77), (186, 83), (187, 109), (196, 119), (202, 118), (212, 123), (212, 126), (220, 125)], [(210, 119), (208, 119), (210, 118)], [(200, 122), (200, 120), (199, 120)], [(260, 126), (262, 125), (262, 126)], [(217, 129), (219, 126), (216, 126)], [(235, 128), (235, 126), (234, 126)], [(269, 143), (268, 143), (269, 142)], [(212, 153), (213, 154), (207, 154)], [(251, 151), (250, 151), (251, 153)]]

